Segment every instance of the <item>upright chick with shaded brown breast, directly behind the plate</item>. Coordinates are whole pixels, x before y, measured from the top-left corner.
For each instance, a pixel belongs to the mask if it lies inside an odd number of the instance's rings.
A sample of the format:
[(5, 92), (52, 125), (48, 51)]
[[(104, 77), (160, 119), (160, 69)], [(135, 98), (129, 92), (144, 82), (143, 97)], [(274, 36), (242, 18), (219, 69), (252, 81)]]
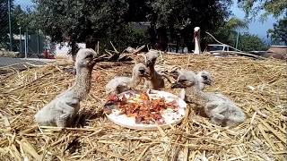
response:
[(148, 67), (149, 69), (151, 79), (144, 81), (144, 88), (155, 89), (155, 90), (163, 89), (164, 80), (162, 78), (162, 75), (159, 72), (156, 72), (156, 70), (154, 69), (156, 59), (159, 57), (159, 52), (156, 50), (150, 50), (145, 54), (145, 57), (146, 57), (145, 66)]

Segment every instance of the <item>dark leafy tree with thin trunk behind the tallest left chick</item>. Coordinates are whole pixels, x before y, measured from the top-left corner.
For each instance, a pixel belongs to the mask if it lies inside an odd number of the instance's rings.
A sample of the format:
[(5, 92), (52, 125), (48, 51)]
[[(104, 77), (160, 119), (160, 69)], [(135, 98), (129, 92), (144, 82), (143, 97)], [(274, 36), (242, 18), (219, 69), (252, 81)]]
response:
[(86, 42), (87, 47), (94, 48), (97, 39), (118, 38), (126, 24), (125, 0), (35, 0), (35, 3), (35, 25), (54, 42), (68, 41), (72, 55), (76, 54), (76, 42)]

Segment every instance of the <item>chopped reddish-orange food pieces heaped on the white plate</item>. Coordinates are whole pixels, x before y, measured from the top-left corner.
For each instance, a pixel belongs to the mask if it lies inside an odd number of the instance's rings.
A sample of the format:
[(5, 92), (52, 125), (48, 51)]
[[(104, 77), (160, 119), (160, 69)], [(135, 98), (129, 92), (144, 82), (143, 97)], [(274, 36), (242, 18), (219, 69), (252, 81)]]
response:
[(163, 97), (149, 92), (125, 92), (107, 98), (104, 113), (111, 114), (113, 110), (127, 117), (135, 117), (135, 123), (162, 124), (165, 123), (163, 114), (178, 113), (178, 102), (167, 101)]

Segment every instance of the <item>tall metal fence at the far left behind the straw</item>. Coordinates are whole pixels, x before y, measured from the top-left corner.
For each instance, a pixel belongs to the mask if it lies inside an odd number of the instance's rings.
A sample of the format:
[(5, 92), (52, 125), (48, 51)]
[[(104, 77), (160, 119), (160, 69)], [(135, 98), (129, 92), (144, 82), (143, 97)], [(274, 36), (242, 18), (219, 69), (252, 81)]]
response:
[[(16, 53), (16, 57), (41, 57), (48, 49), (48, 37), (41, 30), (30, 30), (17, 24), (13, 10), (20, 5), (26, 11), (30, 1), (0, 0), (0, 47), (2, 51)], [(18, 3), (18, 4), (17, 4)]]

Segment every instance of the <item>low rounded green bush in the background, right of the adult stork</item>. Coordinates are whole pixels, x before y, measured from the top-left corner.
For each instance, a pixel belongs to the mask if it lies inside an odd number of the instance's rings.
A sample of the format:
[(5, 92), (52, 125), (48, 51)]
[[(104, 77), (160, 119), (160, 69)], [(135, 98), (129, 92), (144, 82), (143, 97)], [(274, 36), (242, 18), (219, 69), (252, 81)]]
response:
[(244, 33), (239, 36), (239, 50), (241, 51), (265, 51), (266, 49), (267, 46), (257, 35)]

